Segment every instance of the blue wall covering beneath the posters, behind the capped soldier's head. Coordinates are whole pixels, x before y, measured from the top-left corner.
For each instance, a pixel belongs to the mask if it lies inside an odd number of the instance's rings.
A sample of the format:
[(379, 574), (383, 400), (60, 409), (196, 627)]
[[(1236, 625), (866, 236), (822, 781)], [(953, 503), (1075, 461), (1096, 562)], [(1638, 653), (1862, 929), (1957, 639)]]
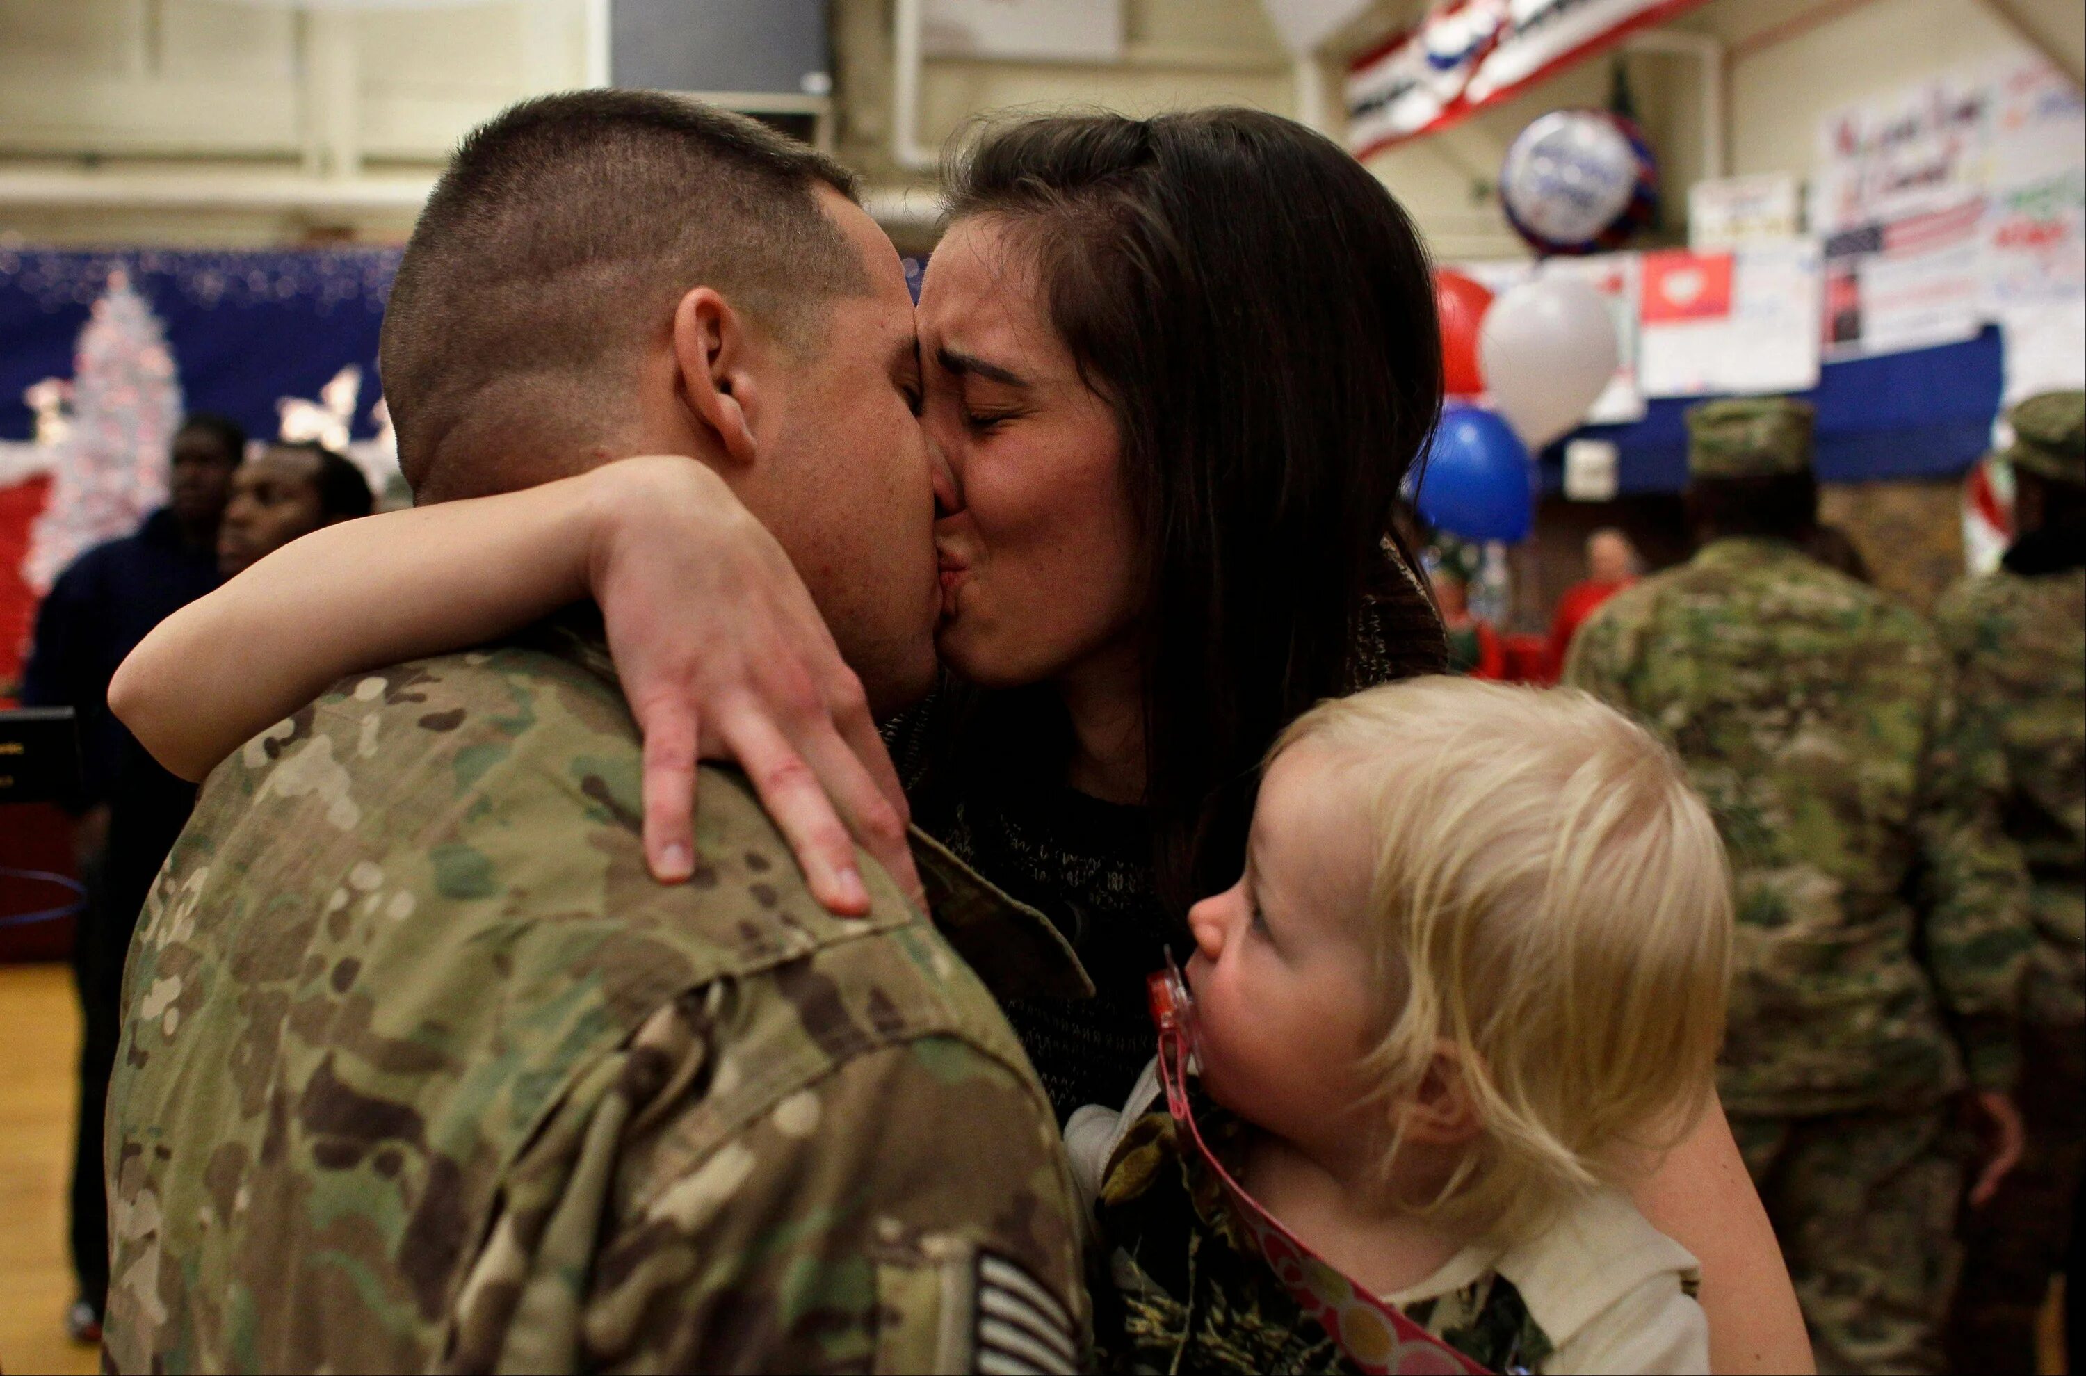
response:
[[(1819, 409), (1821, 482), (1955, 477), (1992, 446), (2003, 386), (1996, 327), (1975, 340), (1905, 354), (1827, 363), (1802, 398)], [(1700, 398), (1654, 400), (1635, 425), (1587, 425), (1577, 436), (1617, 448), (1617, 488), (1679, 492), (1688, 486), (1688, 425)], [(1544, 492), (1564, 486), (1564, 444), (1542, 452)]]

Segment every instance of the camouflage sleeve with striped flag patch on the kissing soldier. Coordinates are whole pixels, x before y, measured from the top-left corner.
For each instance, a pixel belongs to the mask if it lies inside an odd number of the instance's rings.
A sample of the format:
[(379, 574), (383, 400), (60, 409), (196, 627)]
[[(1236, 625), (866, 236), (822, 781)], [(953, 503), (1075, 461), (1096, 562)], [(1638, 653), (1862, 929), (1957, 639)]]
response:
[(640, 1186), (595, 1263), (586, 1368), (1078, 1370), (1064, 1165), (1010, 1067), (951, 1036), (878, 1047), (690, 1155), (703, 1113), (624, 1165)]

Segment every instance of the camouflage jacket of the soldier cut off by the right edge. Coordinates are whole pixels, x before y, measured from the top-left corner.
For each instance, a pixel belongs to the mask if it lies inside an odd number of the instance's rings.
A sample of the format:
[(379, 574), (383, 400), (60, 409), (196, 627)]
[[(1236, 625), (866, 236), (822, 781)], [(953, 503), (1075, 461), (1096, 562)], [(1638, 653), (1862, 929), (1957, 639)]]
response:
[(2086, 1022), (2086, 569), (1957, 584), (1934, 619), (1965, 721), (2007, 761), (2005, 826), (2028, 861), (2028, 1017)]

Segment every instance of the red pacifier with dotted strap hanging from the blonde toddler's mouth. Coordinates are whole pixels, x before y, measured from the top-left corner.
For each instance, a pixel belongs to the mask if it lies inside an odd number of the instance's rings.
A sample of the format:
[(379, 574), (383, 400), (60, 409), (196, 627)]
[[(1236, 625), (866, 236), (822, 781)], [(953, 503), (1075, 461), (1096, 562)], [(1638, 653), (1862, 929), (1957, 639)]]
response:
[(1364, 1286), (1329, 1266), (1318, 1253), (1306, 1247), (1281, 1220), (1260, 1207), (1245, 1193), (1216, 1153), (1202, 1140), (1195, 1126), (1195, 1111), (1187, 1099), (1187, 1078), (1199, 1072), (1195, 1059), (1195, 994), (1189, 992), (1181, 967), (1172, 953), (1166, 953), (1166, 969), (1156, 969), (1145, 980), (1151, 999), (1151, 1022), (1160, 1030), (1160, 1084), (1166, 1088), (1166, 1111), (1187, 1128), (1187, 1138), (1195, 1145), (1202, 1163), (1216, 1172), (1224, 1197), (1231, 1201), (1245, 1226), (1247, 1236), (1260, 1255), (1275, 1270), (1277, 1280), (1289, 1291), (1310, 1318), (1339, 1343), (1348, 1357), (1368, 1372), (1368, 1376), (1466, 1376), (1483, 1372), (1479, 1363), (1433, 1336), (1410, 1318), (1387, 1305)]

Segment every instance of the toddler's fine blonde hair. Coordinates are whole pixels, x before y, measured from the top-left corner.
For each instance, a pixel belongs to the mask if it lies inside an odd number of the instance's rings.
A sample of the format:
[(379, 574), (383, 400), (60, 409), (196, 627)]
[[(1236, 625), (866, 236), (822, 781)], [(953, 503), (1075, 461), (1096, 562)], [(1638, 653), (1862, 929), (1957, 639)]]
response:
[(1302, 742), (1368, 807), (1385, 1103), (1448, 1040), (1481, 1124), (1408, 1203), (1525, 1236), (1629, 1149), (1679, 1140), (1715, 1086), (1731, 886), (1673, 753), (1583, 692), (1460, 678), (1320, 703), (1268, 759)]

